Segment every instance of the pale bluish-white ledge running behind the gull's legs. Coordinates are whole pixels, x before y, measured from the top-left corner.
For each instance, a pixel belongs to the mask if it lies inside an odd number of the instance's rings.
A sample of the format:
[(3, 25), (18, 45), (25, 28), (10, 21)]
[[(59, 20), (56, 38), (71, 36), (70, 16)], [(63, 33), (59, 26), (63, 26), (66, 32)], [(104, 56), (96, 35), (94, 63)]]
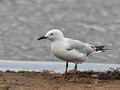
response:
[[(17, 60), (0, 60), (0, 70), (12, 70), (12, 71), (55, 71), (64, 72), (65, 62), (41, 62), (41, 61), (17, 61)], [(69, 63), (69, 69), (74, 68), (73, 63)], [(109, 68), (120, 68), (120, 64), (103, 64), (103, 63), (83, 63), (78, 64), (78, 70), (94, 70), (94, 71), (106, 71)]]

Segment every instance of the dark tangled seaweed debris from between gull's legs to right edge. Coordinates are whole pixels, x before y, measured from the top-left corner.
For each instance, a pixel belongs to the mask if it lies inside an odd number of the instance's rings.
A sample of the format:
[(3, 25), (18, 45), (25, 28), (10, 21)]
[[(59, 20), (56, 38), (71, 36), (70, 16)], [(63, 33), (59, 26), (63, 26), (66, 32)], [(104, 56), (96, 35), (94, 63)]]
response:
[[(107, 71), (78, 71), (78, 78), (94, 78), (99, 80), (120, 80), (120, 68), (110, 68)], [(74, 74), (73, 70), (68, 72), (69, 78)]]

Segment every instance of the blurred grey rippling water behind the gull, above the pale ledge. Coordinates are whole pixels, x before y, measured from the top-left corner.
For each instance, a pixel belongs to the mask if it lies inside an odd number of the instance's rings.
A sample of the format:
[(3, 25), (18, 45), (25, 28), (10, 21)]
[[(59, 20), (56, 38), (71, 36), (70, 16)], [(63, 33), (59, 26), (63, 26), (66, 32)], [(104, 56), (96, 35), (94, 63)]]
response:
[(0, 59), (61, 61), (49, 41), (36, 40), (55, 28), (112, 49), (88, 62), (120, 64), (120, 0), (0, 0)]

